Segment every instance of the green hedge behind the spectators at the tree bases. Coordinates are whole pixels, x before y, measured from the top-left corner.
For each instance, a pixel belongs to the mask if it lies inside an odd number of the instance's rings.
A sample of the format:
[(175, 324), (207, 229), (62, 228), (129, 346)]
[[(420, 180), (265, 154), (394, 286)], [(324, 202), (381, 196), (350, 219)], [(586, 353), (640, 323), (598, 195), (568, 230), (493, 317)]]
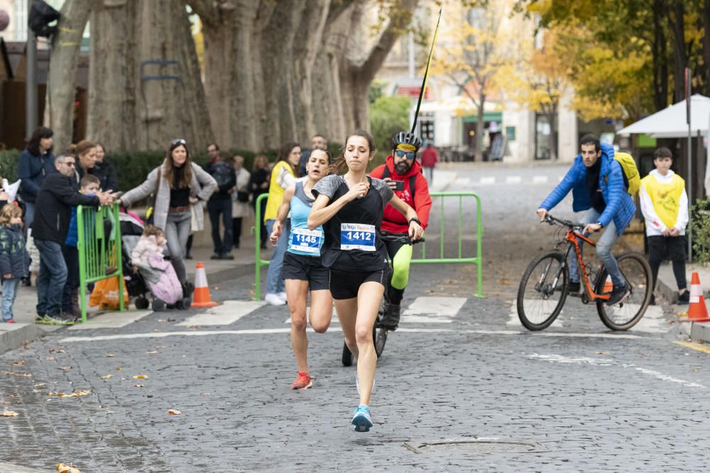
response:
[[(341, 145), (332, 143), (328, 146), (328, 150), (333, 156), (340, 153)], [(251, 166), (256, 157), (256, 152), (245, 150), (229, 150), (229, 156), (241, 155), (244, 156), (244, 167), (251, 171)], [(14, 182), (17, 179), (17, 157), (20, 154), (18, 150), (0, 151), (0, 176), (8, 179), (9, 182)], [(263, 154), (267, 155), (270, 162), (274, 162), (278, 156), (278, 151), (268, 150)], [(379, 150), (372, 167), (381, 165), (384, 162), (388, 150)], [(107, 160), (114, 165), (116, 173), (119, 175), (119, 183), (122, 191), (133, 189), (146, 179), (148, 172), (157, 167), (160, 162), (165, 159), (165, 151), (134, 151), (134, 152), (110, 152), (107, 154)], [(198, 165), (204, 165), (209, 158), (207, 153), (193, 155), (194, 160)]]

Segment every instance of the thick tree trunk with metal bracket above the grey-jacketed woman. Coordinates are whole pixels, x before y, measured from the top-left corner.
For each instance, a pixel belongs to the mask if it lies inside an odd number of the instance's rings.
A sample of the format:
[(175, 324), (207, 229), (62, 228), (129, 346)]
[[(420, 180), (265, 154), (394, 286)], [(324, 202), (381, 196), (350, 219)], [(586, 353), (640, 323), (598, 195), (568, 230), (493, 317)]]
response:
[(175, 138), (204, 149), (212, 128), (183, 2), (98, 1), (91, 23), (89, 138), (111, 150)]

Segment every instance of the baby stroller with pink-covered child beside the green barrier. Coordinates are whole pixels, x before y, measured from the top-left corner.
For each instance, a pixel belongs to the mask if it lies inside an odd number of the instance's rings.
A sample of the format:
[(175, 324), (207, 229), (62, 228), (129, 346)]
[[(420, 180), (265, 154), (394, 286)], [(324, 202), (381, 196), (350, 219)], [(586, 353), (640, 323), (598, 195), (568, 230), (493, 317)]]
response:
[[(128, 215), (119, 213), (121, 222), (121, 264), (124, 267), (126, 291), (130, 297), (135, 297), (136, 308), (148, 308), (148, 294), (151, 294), (153, 311), (163, 311), (165, 308), (190, 308), (190, 298), (182, 296), (182, 288), (175, 284), (163, 284), (167, 277), (175, 276), (175, 270), (170, 262), (163, 258), (155, 258), (148, 264), (136, 265), (138, 272), (133, 272), (131, 253), (138, 245), (143, 235), (143, 224)], [(179, 290), (178, 290), (179, 288)]]

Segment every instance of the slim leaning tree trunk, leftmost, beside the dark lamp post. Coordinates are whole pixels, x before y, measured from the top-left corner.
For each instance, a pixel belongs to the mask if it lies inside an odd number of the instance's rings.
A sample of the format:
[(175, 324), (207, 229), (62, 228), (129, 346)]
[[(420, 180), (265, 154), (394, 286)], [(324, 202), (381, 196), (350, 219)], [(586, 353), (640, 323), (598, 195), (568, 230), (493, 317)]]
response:
[(66, 150), (72, 143), (77, 66), (84, 27), (89, 20), (92, 2), (67, 0), (53, 38), (48, 77), (49, 128), (54, 131), (56, 150)]

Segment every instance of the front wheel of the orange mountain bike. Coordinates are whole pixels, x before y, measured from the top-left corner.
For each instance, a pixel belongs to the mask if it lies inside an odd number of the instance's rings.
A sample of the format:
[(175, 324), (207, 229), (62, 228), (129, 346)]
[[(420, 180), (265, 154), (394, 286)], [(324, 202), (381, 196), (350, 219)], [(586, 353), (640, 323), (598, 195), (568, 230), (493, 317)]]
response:
[(559, 316), (567, 299), (569, 269), (564, 256), (550, 252), (532, 260), (518, 288), (518, 318), (528, 330), (543, 330)]

